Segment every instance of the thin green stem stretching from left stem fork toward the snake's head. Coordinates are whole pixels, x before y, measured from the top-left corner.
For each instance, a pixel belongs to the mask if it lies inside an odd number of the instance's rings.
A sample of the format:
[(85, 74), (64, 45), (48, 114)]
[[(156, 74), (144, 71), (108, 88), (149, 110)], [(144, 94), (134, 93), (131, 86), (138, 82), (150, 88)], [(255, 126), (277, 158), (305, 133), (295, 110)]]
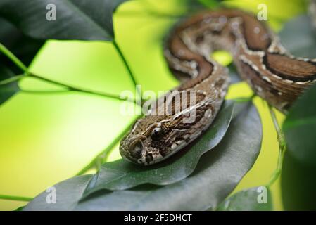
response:
[[(77, 92), (82, 92), (82, 93), (87, 93), (87, 94), (94, 94), (94, 95), (103, 96), (103, 97), (107, 97), (107, 98), (115, 98), (117, 100), (123, 101), (122, 99), (120, 99), (120, 96), (117, 96), (117, 95), (114, 95), (114, 94), (108, 94), (108, 93), (103, 93), (103, 92), (99, 92), (99, 91), (92, 91), (92, 90), (88, 90), (88, 89), (78, 88), (76, 86), (71, 86), (71, 85), (68, 85), (68, 84), (63, 84), (61, 82), (56, 82), (56, 81), (53, 81), (51, 79), (41, 77), (39, 75), (34, 75), (33, 73), (30, 73), (28, 75), (28, 77), (34, 77), (34, 78), (37, 78), (37, 79), (41, 79), (44, 82), (49, 82), (51, 84), (56, 84), (58, 86), (62, 86), (65, 89), (67, 89), (68, 91), (77, 91)], [(127, 99), (127, 101), (132, 101), (132, 100), (128, 100)], [(132, 101), (132, 102), (134, 103), (134, 101)]]

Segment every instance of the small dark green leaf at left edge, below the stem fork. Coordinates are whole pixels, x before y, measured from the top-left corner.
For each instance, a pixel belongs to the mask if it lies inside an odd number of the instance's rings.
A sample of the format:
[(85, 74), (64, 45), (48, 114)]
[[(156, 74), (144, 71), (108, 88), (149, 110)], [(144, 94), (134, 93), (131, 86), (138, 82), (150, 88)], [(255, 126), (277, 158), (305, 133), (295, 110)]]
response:
[[(13, 77), (14, 73), (8, 68), (0, 65), (0, 82), (1, 80)], [(11, 82), (0, 85), (0, 105), (20, 91), (18, 82)]]

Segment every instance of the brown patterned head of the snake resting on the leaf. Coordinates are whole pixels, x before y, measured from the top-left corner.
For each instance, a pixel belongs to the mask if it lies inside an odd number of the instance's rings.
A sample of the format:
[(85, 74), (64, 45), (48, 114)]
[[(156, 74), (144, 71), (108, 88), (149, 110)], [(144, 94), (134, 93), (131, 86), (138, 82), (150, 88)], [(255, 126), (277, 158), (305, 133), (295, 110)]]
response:
[(211, 92), (174, 91), (160, 97), (157, 107), (137, 120), (120, 142), (122, 158), (152, 165), (169, 158), (200, 136), (220, 110), (229, 78), (227, 74), (214, 75), (210, 82)]

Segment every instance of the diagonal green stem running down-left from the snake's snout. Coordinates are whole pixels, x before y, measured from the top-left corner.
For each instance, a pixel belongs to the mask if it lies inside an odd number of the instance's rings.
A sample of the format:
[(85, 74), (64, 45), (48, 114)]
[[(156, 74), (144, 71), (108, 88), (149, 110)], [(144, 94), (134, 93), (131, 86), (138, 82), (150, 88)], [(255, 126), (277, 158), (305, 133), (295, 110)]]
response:
[[(137, 119), (139, 117), (137, 117)], [(126, 134), (126, 132), (129, 130), (130, 126), (133, 123), (134, 123), (134, 120), (132, 121), (132, 123), (128, 124), (127, 127), (125, 127), (125, 129), (123, 129), (120, 132), (120, 134), (118, 134), (118, 136), (116, 136), (115, 139), (113, 141), (111, 141), (110, 144), (101, 153), (99, 153), (99, 155), (96, 155), (96, 157), (93, 160), (91, 160), (91, 162), (87, 166), (85, 166), (83, 169), (81, 169), (80, 172), (78, 172), (75, 176), (80, 176), (80, 175), (86, 173), (89, 169), (92, 169), (94, 167), (96, 169), (99, 169), (99, 167), (101, 167), (103, 162), (105, 162), (107, 160), (110, 151), (120, 141), (120, 139), (122, 139), (122, 137)]]

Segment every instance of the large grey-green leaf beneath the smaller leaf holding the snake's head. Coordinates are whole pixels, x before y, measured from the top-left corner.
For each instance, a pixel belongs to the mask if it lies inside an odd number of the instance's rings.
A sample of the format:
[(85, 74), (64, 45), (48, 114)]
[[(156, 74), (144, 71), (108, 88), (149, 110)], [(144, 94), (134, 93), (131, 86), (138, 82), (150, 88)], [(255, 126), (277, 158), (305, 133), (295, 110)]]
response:
[[(241, 107), (241, 105), (243, 107)], [(57, 184), (59, 200), (47, 204), (42, 193), (24, 210), (206, 210), (231, 193), (253, 166), (260, 151), (262, 127), (252, 104), (238, 104), (236, 117), (220, 144), (198, 162), (191, 176), (167, 186), (141, 185), (125, 191), (98, 191), (80, 200), (91, 175)], [(68, 196), (69, 195), (69, 196)]]

